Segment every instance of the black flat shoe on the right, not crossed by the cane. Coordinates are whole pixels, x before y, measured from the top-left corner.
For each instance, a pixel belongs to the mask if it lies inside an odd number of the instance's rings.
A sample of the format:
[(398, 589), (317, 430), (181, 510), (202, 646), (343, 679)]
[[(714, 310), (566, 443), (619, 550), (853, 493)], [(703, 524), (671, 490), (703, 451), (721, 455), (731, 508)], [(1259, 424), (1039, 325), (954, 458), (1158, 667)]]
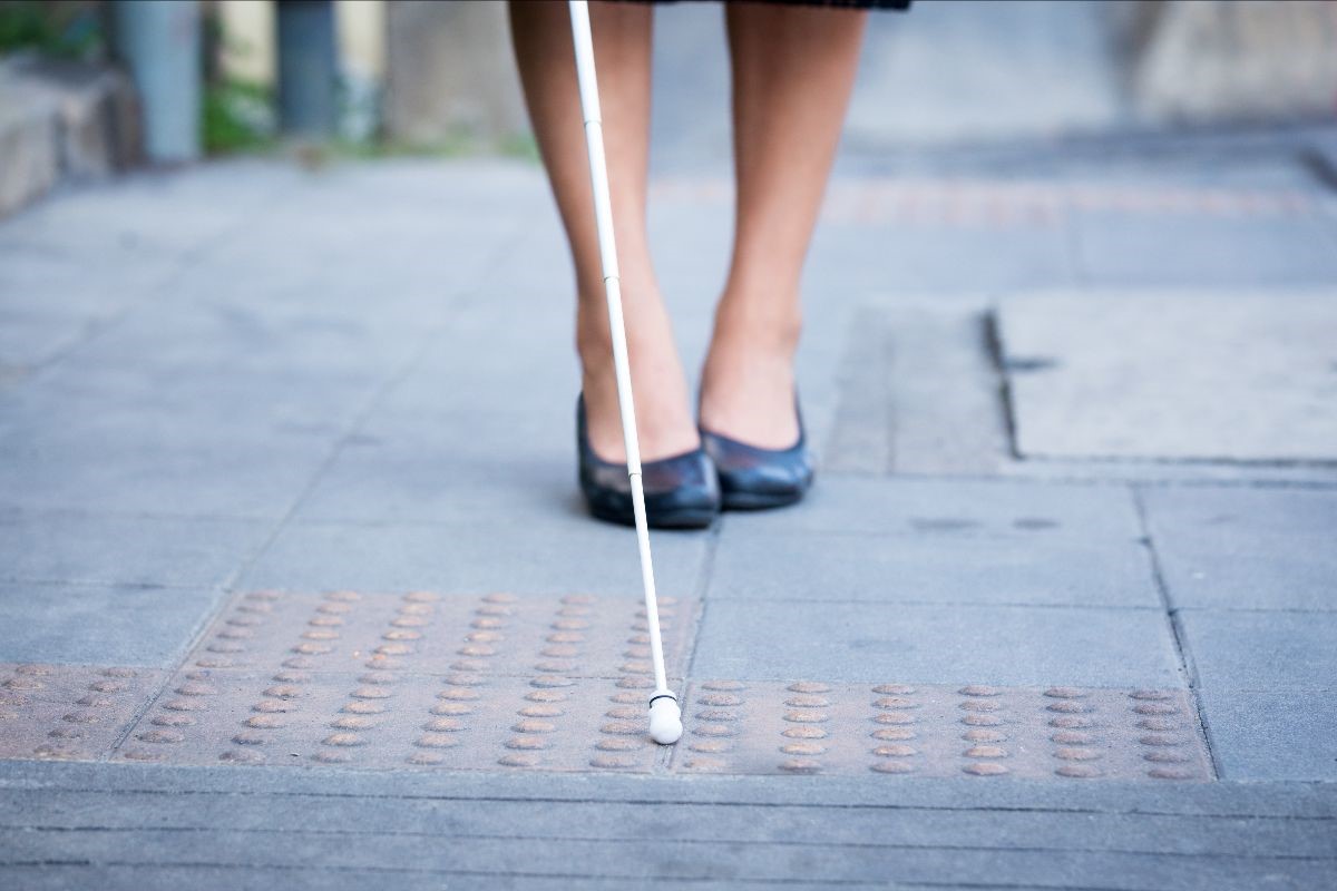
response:
[(798, 442), (787, 449), (758, 449), (701, 429), (701, 445), (715, 462), (725, 510), (783, 508), (804, 497), (813, 485), (813, 456), (798, 411)]

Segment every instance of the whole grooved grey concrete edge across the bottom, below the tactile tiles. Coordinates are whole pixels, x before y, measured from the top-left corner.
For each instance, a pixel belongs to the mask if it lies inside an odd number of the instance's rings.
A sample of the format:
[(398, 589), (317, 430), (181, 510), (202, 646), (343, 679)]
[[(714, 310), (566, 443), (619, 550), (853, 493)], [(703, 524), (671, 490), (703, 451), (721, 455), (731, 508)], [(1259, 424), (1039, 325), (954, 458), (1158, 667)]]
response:
[[(275, 875), (273, 868), (247, 866), (245, 855), (218, 856), (230, 851), (226, 846), (214, 846), (207, 855), (206, 860), (217, 863), (214, 867), (198, 863), (174, 867), (187, 852), (138, 847), (124, 835), (126, 830), (172, 826), (205, 838), (222, 832), (221, 839), (249, 831), (250, 844), (258, 848), (282, 844), (277, 835), (281, 830), (302, 827), (320, 836), (337, 832), (350, 851), (364, 858), (364, 866), (361, 871), (341, 870), (312, 859), (302, 870), (279, 874), (285, 882), (310, 880), (312, 887), (368, 878), (392, 880), (397, 887), (416, 887), (414, 883), (429, 887), (425, 878), (431, 878), (436, 883), (432, 887), (440, 887), (448, 878), (444, 874), (459, 863), (428, 860), (421, 846), (425, 839), (436, 842), (443, 835), (507, 839), (532, 851), (535, 846), (551, 844), (554, 838), (663, 839), (666, 827), (674, 844), (689, 848), (699, 847), (698, 842), (727, 843), (735, 850), (746, 850), (755, 842), (802, 851), (873, 846), (884, 862), (919, 862), (939, 851), (947, 860), (939, 863), (939, 878), (963, 875), (951, 872), (957, 868), (952, 856), (963, 850), (981, 850), (992, 855), (993, 871), (976, 876), (981, 879), (979, 887), (999, 882), (1052, 886), (1058, 880), (1068, 887), (1090, 887), (1090, 875), (1064, 879), (1068, 874), (1056, 872), (1056, 863), (1066, 870), (1076, 858), (1074, 868), (1094, 868), (1098, 852), (1104, 851), (1136, 852), (1139, 859), (1123, 866), (1131, 868), (1130, 863), (1135, 863), (1142, 870), (1128, 874), (1139, 883), (1127, 887), (1253, 888), (1265, 879), (1321, 887), (1313, 883), (1316, 875), (1324, 874), (1316, 874), (1313, 867), (1332, 863), (1330, 823), (1337, 816), (1337, 799), (1329, 785), (1300, 783), (1016, 783), (1005, 776), (964, 775), (960, 780), (876, 776), (880, 781), (869, 781), (869, 775), (798, 775), (777, 781), (773, 776), (536, 776), (524, 771), (388, 773), (74, 763), (60, 765), (56, 772), (55, 767), (36, 761), (0, 764), (0, 785), (7, 792), (0, 800), (7, 878), (36, 875), (47, 882), (47, 874), (33, 872), (39, 867), (20, 867), (31, 860), (12, 856), (13, 848), (8, 847), (32, 838), (33, 830), (27, 828), (33, 822), (28, 812), (32, 807), (37, 808), (31, 811), (32, 818), (40, 818), (52, 835), (67, 839), (122, 831), (127, 844), (106, 859), (87, 858), (91, 871), (76, 878), (96, 876), (112, 883), (132, 879), (147, 882), (147, 887), (182, 879), (203, 886), (235, 884), (273, 880)], [(193, 793), (180, 795), (183, 788)], [(536, 808), (527, 801), (536, 788), (556, 807)], [(12, 815), (23, 818), (23, 828), (15, 828)], [(386, 835), (402, 835), (400, 840), (412, 840), (418, 846), (417, 852), (405, 858), (394, 846), (382, 847)], [(963, 846), (963, 839), (969, 839), (971, 847)], [(999, 864), (1007, 868), (1009, 862), (997, 855), (1012, 850), (1040, 851), (1046, 856), (1031, 862), (1028, 872), (1004, 875)], [(67, 851), (59, 848), (47, 851), (59, 851), (62, 862), (74, 859), (64, 858)], [(135, 855), (127, 858), (127, 851)], [(774, 848), (770, 851), (775, 854)], [(664, 851), (666, 859), (651, 858), (651, 862), (662, 862), (664, 879), (681, 880), (677, 863), (690, 859), (690, 850)], [(1083, 856), (1091, 859), (1082, 860)], [(1199, 874), (1202, 882), (1214, 883), (1210, 886), (1195, 884), (1194, 870), (1169, 875), (1162, 868), (1167, 863), (1213, 863), (1221, 858), (1227, 858), (1234, 872)], [(40, 868), (56, 870), (49, 866), (51, 859), (43, 859)], [(568, 860), (531, 858), (513, 867), (513, 856), (503, 855), (493, 859), (485, 876), (468, 880), (519, 887), (559, 887), (554, 882), (570, 886), (570, 878), (533, 876), (535, 862)], [(729, 887), (753, 878), (741, 860), (721, 862), (717, 867), (699, 883)], [(818, 867), (802, 864), (787, 879), (801, 884), (809, 870)], [(68, 879), (75, 874), (57, 875)], [(869, 872), (866, 878), (874, 875), (880, 874)], [(826, 879), (821, 871), (812, 874), (812, 883)], [(524, 884), (543, 880), (550, 884)], [(853, 879), (854, 887), (861, 882)], [(885, 879), (881, 883), (885, 886)], [(1124, 887), (1114, 879), (1102, 884)]]

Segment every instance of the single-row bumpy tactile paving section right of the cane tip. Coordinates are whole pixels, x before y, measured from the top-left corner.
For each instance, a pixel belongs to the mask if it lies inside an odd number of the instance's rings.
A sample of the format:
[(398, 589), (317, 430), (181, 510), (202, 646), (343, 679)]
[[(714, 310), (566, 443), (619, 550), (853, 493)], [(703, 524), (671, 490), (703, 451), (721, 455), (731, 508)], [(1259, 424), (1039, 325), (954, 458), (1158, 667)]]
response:
[(673, 769), (1210, 780), (1183, 691), (693, 683)]

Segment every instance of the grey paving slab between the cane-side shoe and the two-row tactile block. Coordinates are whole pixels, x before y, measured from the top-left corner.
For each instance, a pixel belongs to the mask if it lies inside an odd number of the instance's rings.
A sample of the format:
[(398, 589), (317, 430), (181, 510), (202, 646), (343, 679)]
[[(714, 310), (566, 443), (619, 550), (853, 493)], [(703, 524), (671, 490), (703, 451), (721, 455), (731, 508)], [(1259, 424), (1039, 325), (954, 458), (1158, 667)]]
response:
[[(451, 590), (457, 593), (640, 597), (631, 529), (591, 521), (572, 490), (564, 508), (532, 524), (354, 525), (294, 522), (247, 570), (250, 588), (293, 590)], [(667, 596), (695, 594), (706, 533), (654, 537), (655, 581)]]

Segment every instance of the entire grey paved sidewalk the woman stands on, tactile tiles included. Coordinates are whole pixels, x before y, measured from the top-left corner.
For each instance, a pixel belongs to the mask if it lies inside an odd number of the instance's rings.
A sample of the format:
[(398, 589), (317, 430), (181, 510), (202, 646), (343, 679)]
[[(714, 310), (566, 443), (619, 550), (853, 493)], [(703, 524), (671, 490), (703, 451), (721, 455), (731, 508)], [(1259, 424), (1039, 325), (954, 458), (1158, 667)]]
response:
[[(537, 168), (0, 223), (5, 884), (1329, 887), (1337, 200), (1110, 158), (833, 183), (812, 498), (652, 536), (673, 749)], [(729, 186), (654, 188), (697, 367)]]

